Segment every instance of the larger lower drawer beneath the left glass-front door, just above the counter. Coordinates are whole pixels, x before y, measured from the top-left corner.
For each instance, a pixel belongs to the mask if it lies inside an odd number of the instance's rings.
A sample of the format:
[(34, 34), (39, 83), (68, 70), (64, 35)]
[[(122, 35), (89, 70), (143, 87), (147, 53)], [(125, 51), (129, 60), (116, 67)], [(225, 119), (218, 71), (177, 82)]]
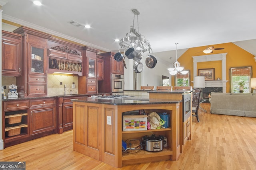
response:
[(46, 84), (28, 84), (28, 96), (46, 96)]

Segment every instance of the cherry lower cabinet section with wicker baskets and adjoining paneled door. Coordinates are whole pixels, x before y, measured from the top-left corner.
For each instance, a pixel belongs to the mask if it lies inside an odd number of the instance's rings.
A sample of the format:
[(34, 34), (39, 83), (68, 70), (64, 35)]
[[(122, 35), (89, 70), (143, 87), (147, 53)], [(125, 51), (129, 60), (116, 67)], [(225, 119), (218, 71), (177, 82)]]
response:
[(2, 102), (4, 148), (56, 133), (56, 99)]

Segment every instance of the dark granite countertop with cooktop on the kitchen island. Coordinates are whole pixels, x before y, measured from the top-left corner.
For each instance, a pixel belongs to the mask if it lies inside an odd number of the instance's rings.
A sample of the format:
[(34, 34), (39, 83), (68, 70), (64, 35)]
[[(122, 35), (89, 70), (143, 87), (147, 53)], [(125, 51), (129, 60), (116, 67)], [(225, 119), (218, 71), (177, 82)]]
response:
[(176, 104), (182, 102), (181, 100), (172, 99), (149, 99), (148, 96), (131, 96), (119, 99), (79, 98), (71, 101), (110, 105)]

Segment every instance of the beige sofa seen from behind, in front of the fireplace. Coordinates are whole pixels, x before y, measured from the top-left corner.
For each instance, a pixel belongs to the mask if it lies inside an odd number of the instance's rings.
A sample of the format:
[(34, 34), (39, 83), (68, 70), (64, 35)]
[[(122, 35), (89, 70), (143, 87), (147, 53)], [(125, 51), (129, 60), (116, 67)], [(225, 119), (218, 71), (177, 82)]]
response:
[(256, 117), (256, 93), (211, 92), (211, 113)]

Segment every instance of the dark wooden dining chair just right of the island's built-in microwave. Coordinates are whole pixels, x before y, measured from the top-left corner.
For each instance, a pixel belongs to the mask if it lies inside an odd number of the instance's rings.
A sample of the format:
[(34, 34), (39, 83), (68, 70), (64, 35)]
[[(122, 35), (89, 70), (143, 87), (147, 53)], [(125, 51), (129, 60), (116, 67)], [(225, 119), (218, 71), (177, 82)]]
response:
[(192, 90), (192, 116), (195, 116), (197, 121), (199, 122), (198, 110), (200, 107), (200, 95), (202, 93), (202, 90), (198, 88), (193, 88)]

